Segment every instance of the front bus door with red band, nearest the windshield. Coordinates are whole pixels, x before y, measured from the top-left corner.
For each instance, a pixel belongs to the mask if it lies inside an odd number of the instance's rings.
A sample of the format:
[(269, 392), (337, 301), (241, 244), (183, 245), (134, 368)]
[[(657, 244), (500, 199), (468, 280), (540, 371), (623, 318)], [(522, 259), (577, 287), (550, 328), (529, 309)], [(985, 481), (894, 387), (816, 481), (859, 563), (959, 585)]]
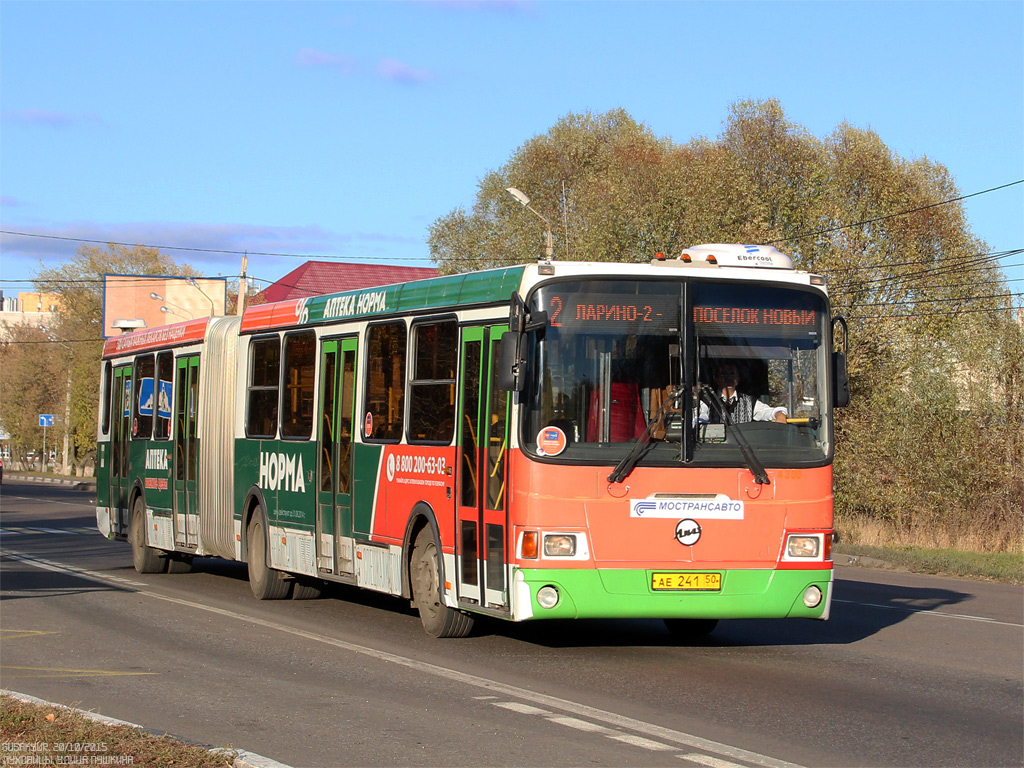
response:
[(498, 387), (507, 327), (463, 329), (459, 395), (459, 597), (508, 611), (508, 392)]

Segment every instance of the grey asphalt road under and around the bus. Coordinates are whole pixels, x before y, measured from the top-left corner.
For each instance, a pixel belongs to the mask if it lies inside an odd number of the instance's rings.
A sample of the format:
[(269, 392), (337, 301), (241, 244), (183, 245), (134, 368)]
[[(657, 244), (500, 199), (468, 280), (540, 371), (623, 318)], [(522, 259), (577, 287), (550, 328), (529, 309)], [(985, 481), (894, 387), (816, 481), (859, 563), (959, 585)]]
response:
[(90, 495), (0, 490), (0, 688), (292, 766), (1021, 766), (1024, 590), (839, 568), (828, 622), (511, 625), (433, 640), (350, 588), (140, 575)]

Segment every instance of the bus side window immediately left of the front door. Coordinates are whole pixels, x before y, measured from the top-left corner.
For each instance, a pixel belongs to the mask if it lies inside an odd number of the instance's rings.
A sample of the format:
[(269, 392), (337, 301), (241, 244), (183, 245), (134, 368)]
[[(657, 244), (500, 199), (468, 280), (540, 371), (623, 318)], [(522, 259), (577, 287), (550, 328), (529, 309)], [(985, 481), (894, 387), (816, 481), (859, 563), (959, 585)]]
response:
[(455, 434), (459, 326), (454, 319), (425, 323), (414, 326), (413, 334), (409, 441), (450, 443)]

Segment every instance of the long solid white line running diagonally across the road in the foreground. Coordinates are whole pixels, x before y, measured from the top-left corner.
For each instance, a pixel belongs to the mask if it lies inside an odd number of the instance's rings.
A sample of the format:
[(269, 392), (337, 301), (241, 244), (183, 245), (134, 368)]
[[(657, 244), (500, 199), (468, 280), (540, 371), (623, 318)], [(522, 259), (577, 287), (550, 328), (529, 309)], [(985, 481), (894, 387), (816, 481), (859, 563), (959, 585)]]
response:
[[(106, 573), (100, 573), (96, 571), (86, 570), (84, 568), (78, 568), (73, 565), (66, 565), (63, 563), (56, 563), (49, 560), (42, 560), (41, 558), (33, 557), (31, 555), (26, 555), (18, 552), (12, 552), (10, 550), (0, 550), (0, 553), (7, 557), (11, 557), (20, 562), (25, 562), (30, 565), (36, 565), (37, 567), (45, 568), (47, 570), (53, 571), (63, 571), (74, 573), (75, 575), (81, 577), (83, 579), (88, 579), (90, 581), (99, 582), (101, 584), (113, 584), (116, 586), (121, 586), (123, 584), (131, 584), (132, 586), (137, 585), (138, 587), (146, 587), (147, 585), (138, 583), (129, 583), (127, 580), (120, 579), (118, 577), (111, 577)], [(274, 630), (278, 632), (286, 633), (292, 635), (293, 637), (300, 637), (304, 640), (309, 640), (316, 643), (323, 643), (324, 645), (329, 645), (342, 650), (347, 650), (352, 653), (358, 653), (360, 655), (375, 658), (381, 662), (387, 662), (390, 664), (395, 664), (408, 669), (416, 670), (417, 672), (432, 675), (444, 680), (449, 680), (455, 683), (461, 683), (463, 685), (480, 688), (482, 690), (488, 691), (489, 693), (500, 694), (502, 696), (509, 696), (519, 699), (524, 699), (526, 701), (531, 701), (535, 705), (541, 705), (542, 707), (547, 707), (552, 710), (560, 710), (562, 712), (569, 713), (570, 715), (575, 715), (579, 717), (562, 717), (553, 716), (547, 719), (559, 723), (561, 725), (568, 725), (580, 730), (587, 730), (595, 733), (602, 733), (604, 735), (612, 734), (612, 737), (622, 734), (620, 731), (610, 730), (610, 728), (618, 728), (626, 731), (633, 731), (634, 733), (642, 733), (646, 736), (653, 736), (654, 738), (660, 739), (662, 741), (668, 741), (675, 744), (684, 744), (690, 749), (702, 750), (705, 752), (714, 753), (715, 755), (721, 755), (723, 757), (732, 758), (733, 760), (742, 760), (745, 763), (753, 765), (764, 766), (765, 768), (801, 768), (795, 763), (788, 763), (784, 760), (776, 760), (767, 755), (761, 755), (756, 752), (751, 752), (749, 750), (743, 750), (738, 746), (732, 746), (730, 744), (724, 744), (718, 741), (713, 741), (708, 738), (701, 738), (691, 733), (685, 733), (683, 731), (677, 731), (672, 728), (666, 728), (660, 725), (654, 725), (653, 723), (647, 723), (642, 720), (637, 720), (635, 718), (627, 717), (625, 715), (617, 715), (613, 712), (607, 712), (605, 710), (599, 710), (595, 707), (588, 707), (586, 705), (578, 703), (575, 701), (570, 701), (565, 698), (559, 698), (557, 696), (551, 696), (546, 693), (538, 693), (537, 691), (531, 691), (528, 688), (520, 688), (515, 685), (509, 685), (507, 683), (500, 683), (496, 680), (488, 680), (487, 678), (479, 677), (477, 675), (471, 675), (465, 672), (459, 672), (458, 670), (451, 670), (445, 667), (439, 667), (429, 662), (421, 662), (415, 658), (409, 658), (407, 656), (398, 655), (397, 653), (389, 653), (387, 651), (378, 650), (377, 648), (370, 648), (365, 645), (358, 645), (356, 643), (351, 643), (345, 640), (339, 640), (337, 638), (328, 637), (326, 635), (321, 635), (314, 632), (309, 632), (308, 630), (301, 630), (297, 627), (289, 627), (288, 625), (281, 624), (279, 622), (271, 622), (266, 618), (261, 618), (259, 616), (247, 615), (245, 613), (240, 613), (233, 610), (227, 610), (226, 608), (218, 608), (212, 605), (204, 605), (203, 603), (198, 603), (193, 600), (186, 600), (179, 597), (171, 597), (170, 595), (161, 595), (157, 592), (151, 592), (147, 589), (135, 589), (133, 590), (136, 594), (144, 595), (146, 597), (153, 598), (155, 600), (163, 600), (165, 602), (174, 603), (175, 605), (182, 605), (195, 610), (202, 610), (208, 613), (214, 613), (226, 618), (233, 618), (240, 622), (245, 622), (250, 625), (257, 625), (264, 627), (269, 630)], [(581, 718), (588, 718), (591, 721), (582, 720)], [(597, 723), (603, 723), (604, 726), (610, 726), (610, 728), (605, 728), (602, 725), (597, 725)], [(647, 741), (648, 739), (644, 739)], [(658, 742), (650, 740), (650, 744), (656, 744)], [(653, 749), (647, 746), (646, 749)], [(660, 748), (658, 748), (660, 749)], [(668, 748), (676, 749), (676, 748)], [(700, 758), (706, 758), (706, 756), (697, 756)], [(687, 758), (689, 759), (689, 758)], [(706, 764), (708, 765), (708, 764)], [(724, 761), (722, 763), (723, 768), (727, 766)]]

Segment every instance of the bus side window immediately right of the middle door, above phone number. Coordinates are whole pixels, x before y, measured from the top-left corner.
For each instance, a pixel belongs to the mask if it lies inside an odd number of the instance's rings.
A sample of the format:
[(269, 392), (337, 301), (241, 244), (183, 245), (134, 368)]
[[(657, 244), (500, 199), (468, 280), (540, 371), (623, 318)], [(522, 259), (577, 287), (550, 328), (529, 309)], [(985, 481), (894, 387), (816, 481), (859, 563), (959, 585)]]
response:
[(367, 330), (367, 400), (362, 436), (401, 439), (406, 400), (406, 324), (401, 321)]

